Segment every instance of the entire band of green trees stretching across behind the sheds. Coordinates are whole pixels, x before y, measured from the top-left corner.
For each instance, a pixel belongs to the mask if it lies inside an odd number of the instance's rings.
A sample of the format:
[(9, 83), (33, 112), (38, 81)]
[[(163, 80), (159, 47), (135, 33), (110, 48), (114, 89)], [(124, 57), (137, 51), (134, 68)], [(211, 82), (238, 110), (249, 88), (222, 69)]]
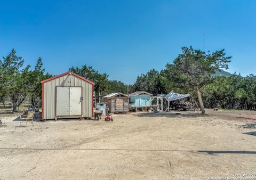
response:
[[(110, 80), (107, 73), (100, 73), (91, 66), (71, 67), (69, 70), (93, 81), (97, 96), (114, 92), (147, 91), (157, 95), (175, 91), (196, 95), (202, 113), (204, 107), (256, 110), (256, 76), (242, 77), (236, 73), (214, 76), (215, 72), (228, 68), (230, 58), (224, 50), (205, 53), (193, 47), (182, 47), (182, 53), (173, 63), (167, 63), (161, 71), (151, 69), (141, 74), (129, 86), (122, 81)], [(41, 57), (33, 69), (23, 64), (23, 58), (14, 49), (0, 60), (0, 103), (4, 104), (5, 97), (10, 97), (14, 112), (26, 99), (33, 108), (39, 105), (41, 80), (52, 77), (45, 72)]]

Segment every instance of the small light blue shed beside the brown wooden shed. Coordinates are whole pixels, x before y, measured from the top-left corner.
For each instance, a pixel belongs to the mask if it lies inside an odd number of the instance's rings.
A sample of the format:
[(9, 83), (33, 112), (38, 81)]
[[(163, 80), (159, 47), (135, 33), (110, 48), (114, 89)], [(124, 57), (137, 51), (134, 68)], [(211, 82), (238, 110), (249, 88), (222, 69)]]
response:
[(129, 94), (129, 108), (141, 109), (142, 111), (150, 110), (151, 107), (151, 96), (152, 94), (147, 93), (145, 91), (137, 91), (132, 94)]

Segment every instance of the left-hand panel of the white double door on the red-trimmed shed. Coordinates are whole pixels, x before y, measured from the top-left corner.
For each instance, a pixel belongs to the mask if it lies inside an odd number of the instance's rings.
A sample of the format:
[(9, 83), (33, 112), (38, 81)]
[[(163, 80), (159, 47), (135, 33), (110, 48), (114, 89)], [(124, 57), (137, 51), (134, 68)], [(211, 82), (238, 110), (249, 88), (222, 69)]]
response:
[(69, 116), (69, 87), (57, 87), (56, 116)]

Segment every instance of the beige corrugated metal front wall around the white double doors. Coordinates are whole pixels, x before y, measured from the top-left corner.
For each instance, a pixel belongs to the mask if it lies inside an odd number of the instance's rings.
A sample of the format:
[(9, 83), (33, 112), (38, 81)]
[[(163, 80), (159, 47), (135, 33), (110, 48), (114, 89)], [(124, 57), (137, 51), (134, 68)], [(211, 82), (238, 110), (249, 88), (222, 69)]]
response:
[(82, 96), (83, 117), (92, 117), (92, 84), (73, 75), (65, 75), (44, 83), (44, 119), (55, 118), (55, 91), (56, 86), (80, 86), (83, 88)]

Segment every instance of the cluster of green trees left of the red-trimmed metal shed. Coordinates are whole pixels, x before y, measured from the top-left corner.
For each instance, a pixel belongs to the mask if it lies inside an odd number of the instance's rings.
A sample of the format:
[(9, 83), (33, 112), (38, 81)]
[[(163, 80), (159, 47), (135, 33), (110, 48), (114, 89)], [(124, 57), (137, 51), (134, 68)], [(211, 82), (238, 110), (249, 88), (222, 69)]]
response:
[(34, 71), (30, 70), (30, 66), (23, 67), (23, 63), (24, 60), (17, 56), (14, 49), (0, 60), (0, 100), (4, 103), (4, 97), (11, 97), (13, 112), (27, 97), (31, 97), (31, 104), (35, 105), (36, 97), (41, 97), (41, 80), (50, 76), (44, 75), (41, 58)]

